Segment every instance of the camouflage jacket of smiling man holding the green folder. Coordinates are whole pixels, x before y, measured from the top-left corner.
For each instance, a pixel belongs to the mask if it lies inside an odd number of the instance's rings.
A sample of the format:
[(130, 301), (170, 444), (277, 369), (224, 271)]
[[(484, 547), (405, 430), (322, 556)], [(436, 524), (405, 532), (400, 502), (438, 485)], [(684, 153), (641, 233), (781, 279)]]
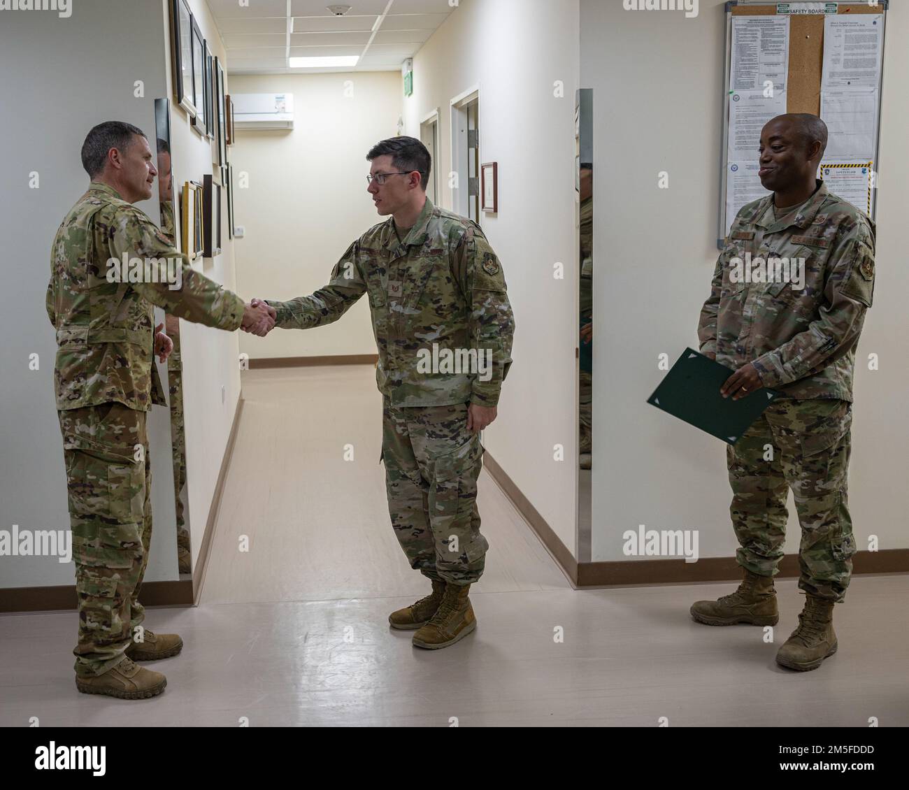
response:
[[(852, 401), (855, 348), (874, 295), (874, 222), (825, 184), (779, 219), (773, 202), (768, 195), (735, 217), (701, 311), (701, 351), (736, 370), (753, 363), (764, 386), (795, 400)], [(804, 288), (732, 276), (746, 254), (804, 259)]]

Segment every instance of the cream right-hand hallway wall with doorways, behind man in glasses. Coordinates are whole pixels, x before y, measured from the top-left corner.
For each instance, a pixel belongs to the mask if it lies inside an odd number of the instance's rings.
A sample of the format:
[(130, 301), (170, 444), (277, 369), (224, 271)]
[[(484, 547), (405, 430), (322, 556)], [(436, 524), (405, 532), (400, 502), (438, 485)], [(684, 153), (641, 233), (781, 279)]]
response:
[[(573, 553), (577, 468), (574, 94), (577, 0), (462, 0), (414, 59), (405, 134), (439, 108), (442, 205), (452, 169), (451, 100), (480, 91), (480, 158), (498, 162), (499, 213), (481, 225), (514, 307), (514, 365), (484, 443)], [(563, 96), (555, 97), (555, 83)], [(553, 267), (564, 264), (564, 280)], [(564, 445), (564, 461), (554, 461)]]

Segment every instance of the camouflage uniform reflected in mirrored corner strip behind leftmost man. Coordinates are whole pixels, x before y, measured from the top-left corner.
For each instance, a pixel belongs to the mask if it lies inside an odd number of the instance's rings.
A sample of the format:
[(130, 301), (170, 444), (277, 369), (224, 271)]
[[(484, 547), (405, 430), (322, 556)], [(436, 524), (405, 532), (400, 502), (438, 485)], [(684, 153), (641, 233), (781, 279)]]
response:
[[(172, 244), (176, 244), (174, 202), (161, 202), (161, 232)], [(174, 350), (167, 357), (167, 393), (170, 395), (171, 455), (174, 463), (174, 505), (176, 512), (177, 569), (181, 574), (192, 570), (189, 554), (189, 530), (183, 511), (183, 497), (186, 485), (186, 435), (183, 417), (183, 357), (180, 355), (180, 322), (175, 315), (167, 316), (167, 336), (174, 343)]]

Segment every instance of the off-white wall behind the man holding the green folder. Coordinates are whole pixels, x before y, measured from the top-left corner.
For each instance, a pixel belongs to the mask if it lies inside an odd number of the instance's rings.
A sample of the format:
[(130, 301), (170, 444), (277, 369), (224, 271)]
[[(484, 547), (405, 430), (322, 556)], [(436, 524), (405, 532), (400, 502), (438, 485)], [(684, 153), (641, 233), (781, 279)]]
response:
[[(903, 5), (903, 4), (892, 4)], [(717, 255), (724, 4), (700, 14), (626, 12), (581, 0), (581, 80), (594, 88), (593, 559), (622, 560), (622, 533), (700, 530), (702, 556), (734, 555), (724, 445), (661, 415), (646, 398), (671, 360), (697, 347)], [(901, 250), (909, 167), (904, 7), (887, 17), (877, 287), (859, 345), (850, 505), (859, 548), (909, 545), (901, 497), (909, 417), (903, 365), (909, 272)], [(657, 189), (669, 173), (670, 188)], [(869, 372), (870, 353), (881, 370)], [(863, 363), (864, 360), (864, 363)], [(786, 551), (798, 548), (790, 498)]]

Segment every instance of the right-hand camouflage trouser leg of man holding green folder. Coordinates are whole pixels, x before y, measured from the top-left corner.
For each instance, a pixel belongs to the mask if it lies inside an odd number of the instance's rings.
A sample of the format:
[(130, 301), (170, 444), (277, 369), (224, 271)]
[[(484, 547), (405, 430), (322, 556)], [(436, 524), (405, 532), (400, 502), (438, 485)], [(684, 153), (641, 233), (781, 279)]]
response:
[(802, 527), (799, 587), (811, 595), (842, 601), (856, 551), (846, 490), (852, 410), (850, 404), (837, 401), (817, 408), (823, 410), (824, 422), (802, 435), (802, 455), (793, 481)]

